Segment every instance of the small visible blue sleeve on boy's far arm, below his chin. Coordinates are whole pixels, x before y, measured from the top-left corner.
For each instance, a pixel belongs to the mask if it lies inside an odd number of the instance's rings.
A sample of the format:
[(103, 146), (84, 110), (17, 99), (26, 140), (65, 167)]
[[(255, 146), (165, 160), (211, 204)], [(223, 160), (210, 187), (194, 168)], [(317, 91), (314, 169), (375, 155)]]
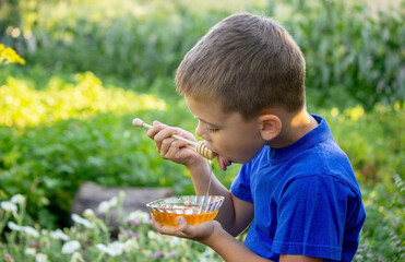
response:
[(253, 202), (252, 192), (250, 189), (250, 163), (242, 165), (238, 176), (230, 186), (230, 192), (238, 199)]

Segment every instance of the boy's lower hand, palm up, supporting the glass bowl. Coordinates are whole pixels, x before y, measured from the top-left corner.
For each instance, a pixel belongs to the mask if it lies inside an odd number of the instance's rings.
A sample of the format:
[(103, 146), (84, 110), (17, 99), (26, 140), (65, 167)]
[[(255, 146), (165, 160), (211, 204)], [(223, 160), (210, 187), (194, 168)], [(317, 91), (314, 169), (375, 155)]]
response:
[(178, 216), (176, 222), (178, 225), (177, 227), (162, 226), (152, 215), (152, 224), (158, 233), (180, 238), (188, 238), (202, 243), (204, 243), (204, 241), (209, 239), (215, 230), (222, 228), (221, 224), (216, 221), (210, 221), (199, 225), (190, 226), (184, 217)]

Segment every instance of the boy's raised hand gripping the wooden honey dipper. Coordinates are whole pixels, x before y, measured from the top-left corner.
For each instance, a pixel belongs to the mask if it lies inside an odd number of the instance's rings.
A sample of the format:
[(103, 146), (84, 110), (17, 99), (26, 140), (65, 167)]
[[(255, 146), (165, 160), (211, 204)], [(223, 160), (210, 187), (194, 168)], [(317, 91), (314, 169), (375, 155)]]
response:
[(157, 151), (164, 159), (169, 159), (186, 166), (193, 165), (203, 159), (203, 157), (193, 150), (192, 145), (171, 138), (172, 134), (177, 134), (184, 139), (196, 141), (195, 138), (186, 130), (171, 128), (158, 121), (154, 121), (146, 134), (155, 141)]

